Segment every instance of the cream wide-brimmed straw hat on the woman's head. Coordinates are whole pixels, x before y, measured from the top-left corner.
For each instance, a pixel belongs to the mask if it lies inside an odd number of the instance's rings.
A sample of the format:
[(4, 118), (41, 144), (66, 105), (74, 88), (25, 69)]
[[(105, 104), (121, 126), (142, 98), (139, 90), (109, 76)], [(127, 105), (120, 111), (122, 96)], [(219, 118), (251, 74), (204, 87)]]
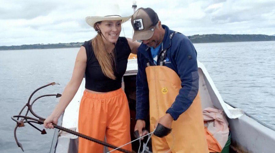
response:
[(122, 23), (124, 23), (132, 17), (132, 15), (122, 17), (118, 4), (108, 3), (97, 7), (97, 9), (95, 16), (88, 16), (85, 18), (86, 23), (91, 27), (94, 27), (94, 24), (99, 21), (122, 20)]

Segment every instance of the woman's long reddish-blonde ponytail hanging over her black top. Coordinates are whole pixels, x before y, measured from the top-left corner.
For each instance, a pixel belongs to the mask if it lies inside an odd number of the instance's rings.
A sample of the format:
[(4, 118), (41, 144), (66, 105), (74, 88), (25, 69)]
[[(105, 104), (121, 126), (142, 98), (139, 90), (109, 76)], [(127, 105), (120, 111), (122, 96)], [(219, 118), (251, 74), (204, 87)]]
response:
[[(101, 22), (98, 23), (100, 24)], [(92, 40), (94, 54), (99, 62), (99, 65), (101, 66), (103, 74), (112, 80), (116, 80), (112, 67), (112, 63), (115, 60), (114, 53), (113, 51), (111, 54), (108, 53), (101, 36), (101, 32), (97, 28), (96, 24), (94, 25), (94, 29), (97, 31), (97, 35)]]

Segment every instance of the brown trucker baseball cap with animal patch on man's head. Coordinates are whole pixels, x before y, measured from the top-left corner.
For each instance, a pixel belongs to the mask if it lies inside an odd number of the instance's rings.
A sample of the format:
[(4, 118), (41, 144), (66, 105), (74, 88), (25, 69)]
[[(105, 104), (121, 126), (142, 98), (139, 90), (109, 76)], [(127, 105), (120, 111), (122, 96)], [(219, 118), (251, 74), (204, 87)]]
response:
[(158, 22), (159, 17), (153, 9), (139, 8), (131, 19), (131, 24), (134, 28), (133, 41), (150, 39)]

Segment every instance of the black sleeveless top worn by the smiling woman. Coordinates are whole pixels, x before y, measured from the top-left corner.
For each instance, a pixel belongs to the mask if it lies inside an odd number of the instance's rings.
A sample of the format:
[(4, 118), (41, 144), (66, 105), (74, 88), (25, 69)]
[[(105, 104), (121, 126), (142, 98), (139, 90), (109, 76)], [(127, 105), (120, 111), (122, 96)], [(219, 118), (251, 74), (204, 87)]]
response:
[(121, 88), (122, 77), (126, 71), (128, 57), (131, 53), (127, 39), (125, 37), (119, 37), (116, 43), (116, 67), (114, 67), (116, 80), (112, 80), (103, 74), (92, 48), (92, 40), (85, 41), (82, 46), (85, 47), (87, 55), (85, 88), (97, 92), (108, 92)]

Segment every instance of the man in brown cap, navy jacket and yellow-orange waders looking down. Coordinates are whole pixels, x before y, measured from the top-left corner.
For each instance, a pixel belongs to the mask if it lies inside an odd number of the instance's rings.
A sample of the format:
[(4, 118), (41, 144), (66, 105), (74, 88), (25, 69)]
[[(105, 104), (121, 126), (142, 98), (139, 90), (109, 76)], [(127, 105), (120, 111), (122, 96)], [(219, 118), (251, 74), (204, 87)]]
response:
[(145, 135), (142, 129), (150, 112), (151, 132), (158, 123), (172, 129), (165, 137), (152, 136), (153, 152), (171, 148), (172, 152), (208, 153), (193, 44), (162, 25), (151, 8), (138, 9), (131, 23), (133, 41), (142, 41), (137, 54), (135, 131)]

